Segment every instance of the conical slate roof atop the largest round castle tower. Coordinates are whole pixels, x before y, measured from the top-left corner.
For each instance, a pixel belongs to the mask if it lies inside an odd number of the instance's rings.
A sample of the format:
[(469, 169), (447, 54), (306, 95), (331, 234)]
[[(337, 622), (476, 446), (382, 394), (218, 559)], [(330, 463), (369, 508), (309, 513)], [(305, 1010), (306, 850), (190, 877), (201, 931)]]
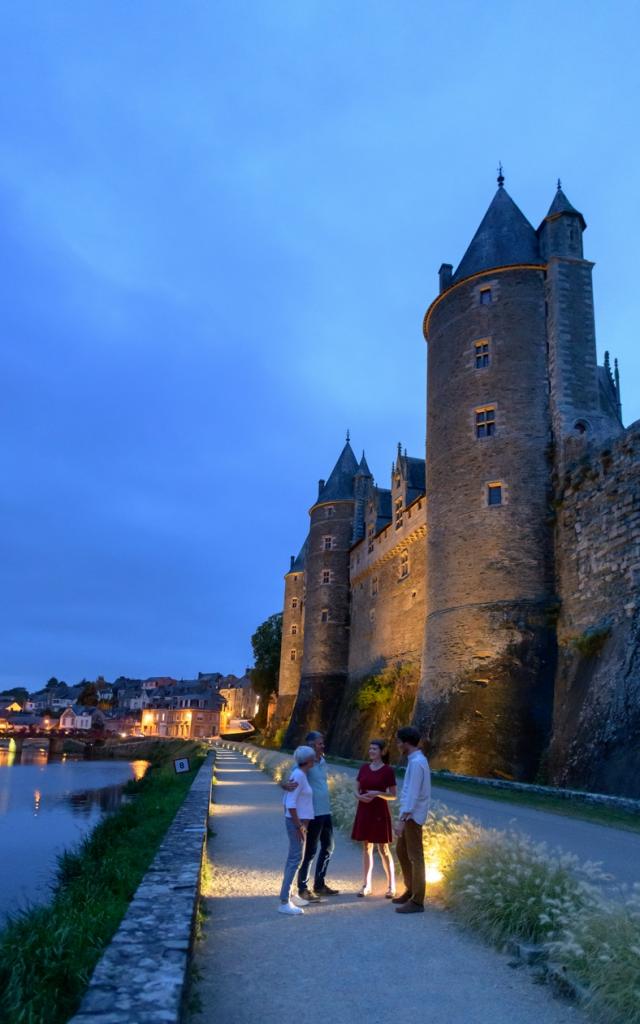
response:
[(510, 266), (513, 263), (543, 263), (543, 260), (534, 227), (501, 185), (462, 257), (452, 283), (480, 270)]

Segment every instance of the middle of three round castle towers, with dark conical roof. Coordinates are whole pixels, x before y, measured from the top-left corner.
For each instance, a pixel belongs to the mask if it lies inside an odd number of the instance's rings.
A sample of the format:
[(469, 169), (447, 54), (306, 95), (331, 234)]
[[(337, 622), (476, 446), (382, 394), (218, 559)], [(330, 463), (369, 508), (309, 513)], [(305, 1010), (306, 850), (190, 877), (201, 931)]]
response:
[(309, 510), (304, 653), (287, 744), (298, 742), (308, 729), (329, 732), (344, 691), (349, 656), (349, 548), (357, 472), (347, 436)]

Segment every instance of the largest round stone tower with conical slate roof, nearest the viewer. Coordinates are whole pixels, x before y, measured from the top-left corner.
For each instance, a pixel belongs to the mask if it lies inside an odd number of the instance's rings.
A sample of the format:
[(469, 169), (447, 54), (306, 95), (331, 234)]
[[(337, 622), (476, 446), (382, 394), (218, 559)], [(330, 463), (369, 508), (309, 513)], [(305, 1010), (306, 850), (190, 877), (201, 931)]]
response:
[(545, 265), (499, 188), (425, 316), (427, 621), (417, 719), (433, 763), (531, 778), (554, 640)]

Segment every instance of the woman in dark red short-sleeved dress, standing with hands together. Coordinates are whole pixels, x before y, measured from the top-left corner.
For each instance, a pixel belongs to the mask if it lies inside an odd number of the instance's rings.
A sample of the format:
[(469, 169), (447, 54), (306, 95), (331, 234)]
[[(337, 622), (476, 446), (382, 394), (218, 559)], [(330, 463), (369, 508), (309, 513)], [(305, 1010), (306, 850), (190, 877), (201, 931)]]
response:
[(357, 810), (351, 831), (351, 839), (362, 844), (362, 887), (358, 896), (371, 895), (371, 877), (374, 869), (374, 845), (387, 877), (385, 896), (395, 896), (395, 869), (389, 844), (393, 841), (391, 815), (387, 806), (395, 800), (395, 772), (389, 765), (383, 739), (372, 739), (369, 744), (369, 764), (362, 765), (357, 773)]

